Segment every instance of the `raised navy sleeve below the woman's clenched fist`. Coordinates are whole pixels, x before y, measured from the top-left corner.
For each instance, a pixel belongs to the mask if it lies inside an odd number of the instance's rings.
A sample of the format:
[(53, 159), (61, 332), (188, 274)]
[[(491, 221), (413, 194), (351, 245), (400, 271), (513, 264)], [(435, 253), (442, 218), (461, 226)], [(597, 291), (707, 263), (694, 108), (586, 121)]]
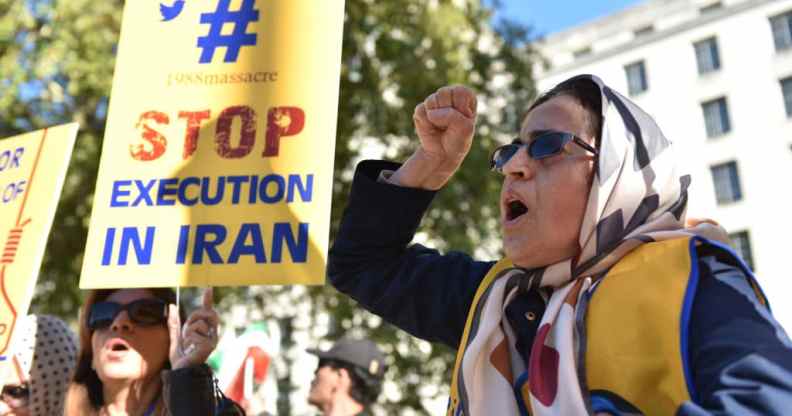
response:
[(328, 258), (330, 282), (410, 334), (459, 345), (479, 283), (494, 262), (409, 245), (434, 192), (377, 181), (399, 165), (361, 162)]

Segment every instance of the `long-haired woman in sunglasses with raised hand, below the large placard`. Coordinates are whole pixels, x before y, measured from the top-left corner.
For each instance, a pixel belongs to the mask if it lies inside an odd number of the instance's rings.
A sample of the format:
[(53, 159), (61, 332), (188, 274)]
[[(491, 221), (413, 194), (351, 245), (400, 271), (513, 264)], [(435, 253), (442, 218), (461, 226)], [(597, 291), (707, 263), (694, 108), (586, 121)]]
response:
[(175, 303), (165, 288), (88, 294), (66, 416), (244, 414), (218, 400), (205, 364), (217, 346), (212, 289), (186, 321)]

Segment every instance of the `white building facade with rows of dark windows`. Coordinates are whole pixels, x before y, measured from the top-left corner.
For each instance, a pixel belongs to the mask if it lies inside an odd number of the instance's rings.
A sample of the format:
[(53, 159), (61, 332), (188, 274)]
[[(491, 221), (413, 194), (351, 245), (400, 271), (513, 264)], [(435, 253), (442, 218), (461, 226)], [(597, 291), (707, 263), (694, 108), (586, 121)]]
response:
[(650, 0), (553, 34), (540, 91), (591, 73), (655, 117), (792, 332), (792, 0)]

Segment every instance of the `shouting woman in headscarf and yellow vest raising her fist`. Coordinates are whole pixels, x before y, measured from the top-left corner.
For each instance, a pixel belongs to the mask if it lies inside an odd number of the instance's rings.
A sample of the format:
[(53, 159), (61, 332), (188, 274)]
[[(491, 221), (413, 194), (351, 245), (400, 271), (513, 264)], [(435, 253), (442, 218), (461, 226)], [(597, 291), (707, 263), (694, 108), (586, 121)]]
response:
[(792, 409), (792, 343), (752, 272), (719, 227), (685, 228), (675, 147), (596, 76), (540, 96), (492, 153), (504, 259), (410, 245), (476, 116), (462, 86), (419, 104), (415, 153), (358, 165), (328, 261), (341, 292), (457, 349), (449, 415)]

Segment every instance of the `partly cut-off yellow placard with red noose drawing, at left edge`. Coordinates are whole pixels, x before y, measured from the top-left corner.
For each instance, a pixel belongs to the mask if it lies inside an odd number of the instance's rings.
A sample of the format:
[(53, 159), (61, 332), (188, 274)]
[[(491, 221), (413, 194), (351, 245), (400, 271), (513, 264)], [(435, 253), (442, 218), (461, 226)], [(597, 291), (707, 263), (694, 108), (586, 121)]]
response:
[(77, 127), (0, 140), (0, 361), (33, 298)]

